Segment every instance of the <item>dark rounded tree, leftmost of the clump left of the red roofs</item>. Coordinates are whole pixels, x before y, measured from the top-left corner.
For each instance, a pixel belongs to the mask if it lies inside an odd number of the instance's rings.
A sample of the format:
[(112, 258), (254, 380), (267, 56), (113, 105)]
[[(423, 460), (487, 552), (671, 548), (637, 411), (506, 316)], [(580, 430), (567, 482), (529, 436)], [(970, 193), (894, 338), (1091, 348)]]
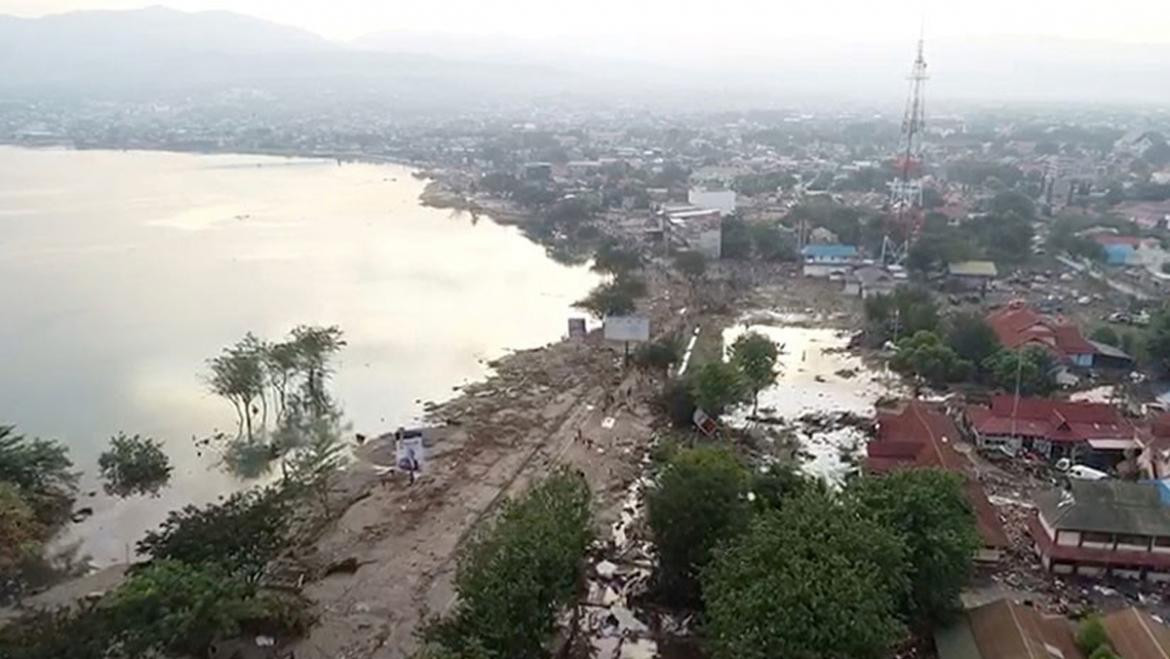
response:
[(749, 472), (718, 447), (677, 451), (647, 494), (647, 512), (659, 550), (658, 588), (675, 605), (700, 602), (698, 575), (715, 547), (743, 529)]

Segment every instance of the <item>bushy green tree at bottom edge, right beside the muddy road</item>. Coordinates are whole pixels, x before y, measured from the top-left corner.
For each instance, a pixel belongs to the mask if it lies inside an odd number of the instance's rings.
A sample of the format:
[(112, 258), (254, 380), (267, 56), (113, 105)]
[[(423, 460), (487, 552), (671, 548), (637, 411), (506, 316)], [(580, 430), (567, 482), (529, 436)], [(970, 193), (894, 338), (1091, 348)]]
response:
[(424, 639), (459, 657), (541, 658), (592, 541), (584, 476), (560, 471), (504, 503), (460, 552), (454, 612)]

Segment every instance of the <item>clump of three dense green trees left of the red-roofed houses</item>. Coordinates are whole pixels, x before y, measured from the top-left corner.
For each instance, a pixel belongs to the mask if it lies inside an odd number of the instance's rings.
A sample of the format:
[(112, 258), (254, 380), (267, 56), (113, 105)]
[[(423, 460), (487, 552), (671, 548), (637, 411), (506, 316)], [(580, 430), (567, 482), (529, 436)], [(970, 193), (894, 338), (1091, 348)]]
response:
[(682, 448), (647, 503), (656, 597), (703, 610), (716, 658), (886, 657), (955, 611), (978, 548), (962, 481), (930, 469), (832, 493)]

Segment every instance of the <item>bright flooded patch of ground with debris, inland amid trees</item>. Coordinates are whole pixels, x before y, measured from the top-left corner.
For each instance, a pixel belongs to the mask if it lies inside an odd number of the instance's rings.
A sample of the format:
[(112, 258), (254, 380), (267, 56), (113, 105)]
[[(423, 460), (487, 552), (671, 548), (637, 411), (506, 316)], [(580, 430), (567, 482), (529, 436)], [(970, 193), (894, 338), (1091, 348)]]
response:
[(750, 405), (728, 416), (735, 427), (779, 427), (799, 445), (804, 473), (840, 483), (856, 467), (874, 405), (899, 391), (893, 373), (870, 369), (849, 351), (849, 332), (827, 318), (775, 313), (749, 314), (723, 330), (727, 350), (745, 332), (759, 332), (780, 348), (777, 382), (759, 392), (759, 419)]

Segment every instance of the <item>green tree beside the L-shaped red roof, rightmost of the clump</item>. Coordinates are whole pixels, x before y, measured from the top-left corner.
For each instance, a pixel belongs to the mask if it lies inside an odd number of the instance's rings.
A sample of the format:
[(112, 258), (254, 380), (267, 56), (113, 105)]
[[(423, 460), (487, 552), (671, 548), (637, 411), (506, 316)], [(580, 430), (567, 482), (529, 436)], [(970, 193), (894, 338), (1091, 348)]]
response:
[[(956, 438), (951, 438), (954, 441)], [(910, 590), (904, 611), (921, 629), (945, 622), (958, 604), (979, 549), (962, 478), (908, 469), (853, 481), (847, 495), (907, 549)]]

